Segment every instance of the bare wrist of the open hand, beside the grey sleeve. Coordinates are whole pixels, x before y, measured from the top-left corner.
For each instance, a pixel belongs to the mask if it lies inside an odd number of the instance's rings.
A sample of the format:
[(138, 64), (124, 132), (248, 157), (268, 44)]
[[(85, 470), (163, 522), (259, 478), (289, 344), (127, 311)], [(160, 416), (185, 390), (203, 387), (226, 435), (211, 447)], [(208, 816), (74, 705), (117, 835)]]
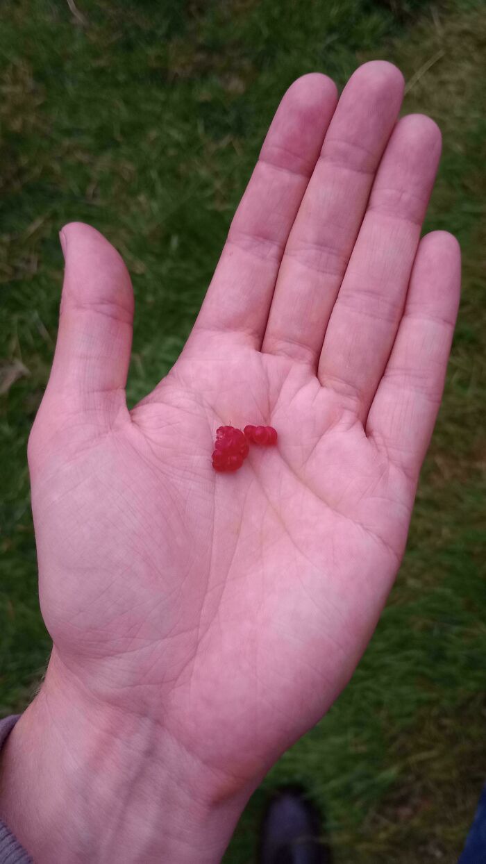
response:
[(0, 814), (36, 864), (212, 864), (252, 791), (221, 795), (163, 728), (96, 704), (55, 655), (0, 773)]

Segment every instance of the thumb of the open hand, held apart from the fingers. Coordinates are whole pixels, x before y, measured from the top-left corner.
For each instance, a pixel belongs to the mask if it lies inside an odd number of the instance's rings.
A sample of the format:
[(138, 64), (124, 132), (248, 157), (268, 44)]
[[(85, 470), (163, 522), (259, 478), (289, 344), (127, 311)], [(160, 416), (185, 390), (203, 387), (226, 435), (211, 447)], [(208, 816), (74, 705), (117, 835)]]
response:
[(133, 326), (133, 291), (123, 258), (91, 226), (60, 232), (66, 268), (60, 322), (46, 397), (110, 424), (126, 407)]

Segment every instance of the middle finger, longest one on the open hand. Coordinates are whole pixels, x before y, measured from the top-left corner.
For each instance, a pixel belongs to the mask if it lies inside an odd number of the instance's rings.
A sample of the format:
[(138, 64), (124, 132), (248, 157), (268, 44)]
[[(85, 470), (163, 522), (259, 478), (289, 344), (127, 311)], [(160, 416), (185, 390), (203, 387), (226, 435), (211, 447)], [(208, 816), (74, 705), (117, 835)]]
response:
[(262, 351), (317, 368), (402, 96), (400, 71), (382, 60), (364, 64), (345, 86), (287, 240)]

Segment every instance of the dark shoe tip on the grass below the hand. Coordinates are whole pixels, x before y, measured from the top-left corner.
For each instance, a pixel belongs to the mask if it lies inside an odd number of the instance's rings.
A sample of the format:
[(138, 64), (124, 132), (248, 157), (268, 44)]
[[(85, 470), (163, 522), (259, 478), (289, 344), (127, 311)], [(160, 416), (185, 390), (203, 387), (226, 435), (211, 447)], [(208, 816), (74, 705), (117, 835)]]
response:
[(331, 864), (319, 814), (297, 787), (277, 792), (263, 817), (260, 864)]

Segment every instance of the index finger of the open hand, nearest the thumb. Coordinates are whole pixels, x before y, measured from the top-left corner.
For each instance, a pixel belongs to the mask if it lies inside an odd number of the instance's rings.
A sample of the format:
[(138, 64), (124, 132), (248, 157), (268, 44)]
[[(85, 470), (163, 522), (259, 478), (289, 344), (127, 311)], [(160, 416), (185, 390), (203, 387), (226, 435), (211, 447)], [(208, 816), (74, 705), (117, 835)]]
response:
[(260, 348), (287, 237), (337, 104), (336, 86), (312, 73), (281, 100), (231, 223), (194, 332), (232, 332)]

